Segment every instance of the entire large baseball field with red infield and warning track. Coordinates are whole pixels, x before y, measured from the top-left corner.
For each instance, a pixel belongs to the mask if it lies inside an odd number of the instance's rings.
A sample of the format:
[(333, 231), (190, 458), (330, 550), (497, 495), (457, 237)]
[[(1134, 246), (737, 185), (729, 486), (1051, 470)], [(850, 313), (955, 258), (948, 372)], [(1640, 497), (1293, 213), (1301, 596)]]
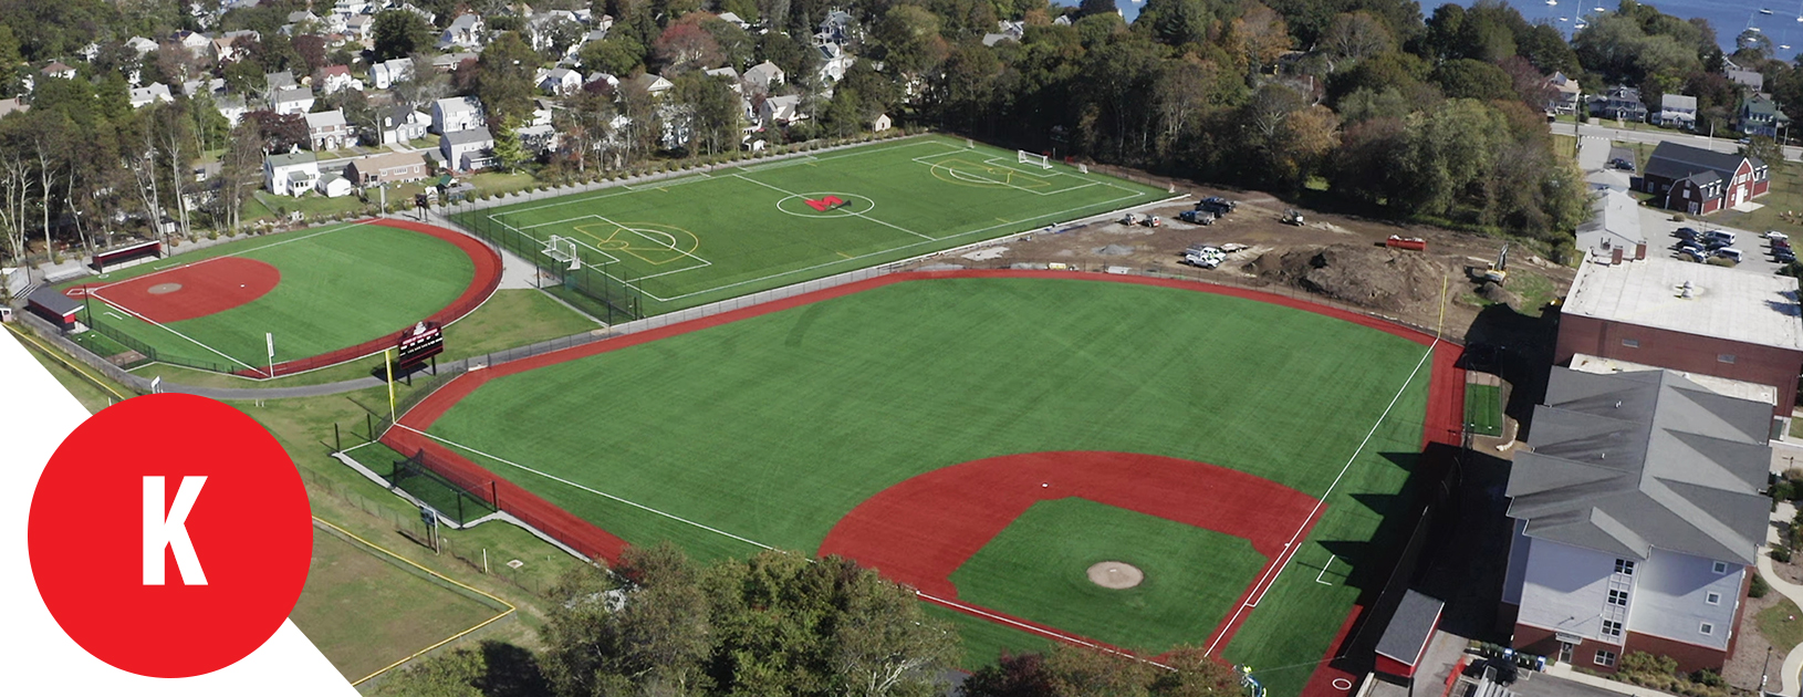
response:
[(1448, 349), (1181, 281), (905, 274), (471, 373), (384, 441), (611, 544), (856, 558), (975, 659), (1195, 645), (1300, 693), (1457, 429)]

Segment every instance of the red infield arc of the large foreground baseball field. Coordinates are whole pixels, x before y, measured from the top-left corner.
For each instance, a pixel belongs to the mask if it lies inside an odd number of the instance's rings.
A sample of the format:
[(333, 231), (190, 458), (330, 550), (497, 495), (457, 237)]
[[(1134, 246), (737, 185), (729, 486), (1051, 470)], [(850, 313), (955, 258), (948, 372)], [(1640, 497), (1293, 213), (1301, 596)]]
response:
[[(930, 596), (957, 598), (952, 571), (1035, 502), (1066, 497), (1249, 540), (1266, 564), (1248, 578), (1240, 603), (1262, 593), (1298, 520), (1305, 537), (1320, 513), (1307, 493), (1224, 466), (1132, 452), (1031, 452), (954, 465), (891, 486), (838, 520), (820, 555), (855, 558)], [(1231, 634), (1244, 616), (1231, 627), (1230, 618), (1221, 620), (1208, 643)]]

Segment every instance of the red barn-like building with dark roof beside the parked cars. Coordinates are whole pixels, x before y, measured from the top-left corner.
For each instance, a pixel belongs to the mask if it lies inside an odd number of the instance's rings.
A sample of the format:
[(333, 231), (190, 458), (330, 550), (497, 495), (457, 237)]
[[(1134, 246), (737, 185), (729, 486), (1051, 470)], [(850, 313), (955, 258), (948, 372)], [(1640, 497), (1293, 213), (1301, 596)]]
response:
[(1661, 142), (1634, 187), (1666, 209), (1709, 214), (1763, 196), (1771, 173), (1756, 157)]

